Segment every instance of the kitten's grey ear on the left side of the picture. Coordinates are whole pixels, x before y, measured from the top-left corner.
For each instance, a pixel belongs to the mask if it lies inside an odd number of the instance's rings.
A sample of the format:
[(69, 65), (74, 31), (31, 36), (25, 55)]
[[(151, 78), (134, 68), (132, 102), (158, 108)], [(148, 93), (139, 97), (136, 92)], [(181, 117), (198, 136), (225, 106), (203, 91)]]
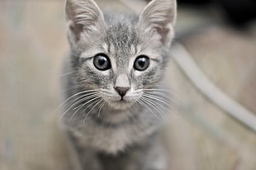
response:
[(93, 0), (66, 0), (66, 19), (77, 40), (82, 32), (100, 31), (104, 24), (102, 11)]

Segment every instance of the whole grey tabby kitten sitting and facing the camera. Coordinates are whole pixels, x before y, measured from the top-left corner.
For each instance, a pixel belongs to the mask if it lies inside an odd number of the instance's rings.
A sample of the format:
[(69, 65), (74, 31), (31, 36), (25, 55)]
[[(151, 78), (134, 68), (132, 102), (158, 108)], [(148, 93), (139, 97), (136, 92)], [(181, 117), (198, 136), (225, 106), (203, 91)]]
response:
[(102, 13), (93, 0), (67, 0), (66, 18), (62, 118), (82, 168), (164, 169), (157, 132), (168, 100), (160, 80), (176, 1), (153, 0), (138, 17)]

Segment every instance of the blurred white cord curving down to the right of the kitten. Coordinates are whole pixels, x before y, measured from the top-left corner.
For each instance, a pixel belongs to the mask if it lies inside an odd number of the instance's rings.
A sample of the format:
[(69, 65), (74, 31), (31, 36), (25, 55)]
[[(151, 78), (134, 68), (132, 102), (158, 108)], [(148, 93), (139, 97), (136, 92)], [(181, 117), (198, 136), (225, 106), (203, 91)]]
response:
[(187, 50), (178, 43), (172, 47), (171, 54), (173, 59), (177, 62), (179, 67), (206, 97), (208, 97), (217, 106), (220, 106), (230, 116), (235, 117), (236, 120), (248, 126), (256, 133), (256, 116), (253, 112), (248, 111), (244, 106), (235, 102), (232, 98), (228, 97), (225, 92), (216, 87), (214, 83), (206, 77), (204, 73), (198, 68), (192, 56)]

